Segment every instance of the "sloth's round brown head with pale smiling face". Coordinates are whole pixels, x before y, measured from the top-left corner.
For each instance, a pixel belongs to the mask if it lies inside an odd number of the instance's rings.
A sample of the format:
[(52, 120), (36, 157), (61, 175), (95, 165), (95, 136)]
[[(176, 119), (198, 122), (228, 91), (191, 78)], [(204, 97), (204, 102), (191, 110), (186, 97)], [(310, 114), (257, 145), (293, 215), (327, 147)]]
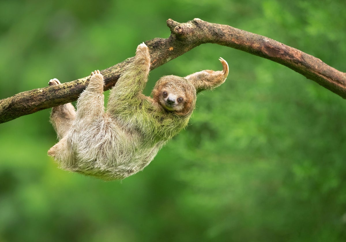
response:
[(163, 76), (155, 84), (153, 99), (165, 110), (179, 116), (190, 115), (196, 103), (196, 89), (185, 78)]

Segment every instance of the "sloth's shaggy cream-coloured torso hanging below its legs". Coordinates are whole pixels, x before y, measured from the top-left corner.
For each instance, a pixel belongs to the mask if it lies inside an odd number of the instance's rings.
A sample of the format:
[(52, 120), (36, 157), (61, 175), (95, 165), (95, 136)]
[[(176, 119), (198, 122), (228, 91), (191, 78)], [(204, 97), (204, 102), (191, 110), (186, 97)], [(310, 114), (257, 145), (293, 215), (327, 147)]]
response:
[(143, 170), (165, 143), (149, 145), (136, 130), (101, 122), (72, 128), (52, 147), (57, 146), (53, 157), (62, 169), (105, 180), (123, 179)]

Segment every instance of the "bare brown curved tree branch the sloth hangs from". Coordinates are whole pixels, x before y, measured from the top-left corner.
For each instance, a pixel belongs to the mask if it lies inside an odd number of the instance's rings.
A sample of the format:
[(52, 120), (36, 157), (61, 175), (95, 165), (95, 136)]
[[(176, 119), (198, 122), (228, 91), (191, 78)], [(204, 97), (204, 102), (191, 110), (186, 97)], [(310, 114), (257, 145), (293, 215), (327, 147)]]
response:
[[(298, 49), (265, 36), (228, 25), (212, 24), (200, 19), (193, 19), (186, 23), (178, 23), (169, 19), (167, 26), (171, 29), (169, 38), (155, 38), (146, 41), (152, 60), (151, 69), (169, 62), (198, 45), (214, 43), (243, 50), (285, 65), (346, 98), (346, 73), (340, 72), (320, 59)], [(132, 60), (133, 57), (128, 58), (124, 62), (101, 71), (106, 83), (104, 90), (110, 89), (117, 82), (122, 69), (126, 68), (126, 65)], [(0, 100), (0, 123), (75, 101), (88, 82), (89, 76), (62, 85), (34, 89), (2, 99)]]

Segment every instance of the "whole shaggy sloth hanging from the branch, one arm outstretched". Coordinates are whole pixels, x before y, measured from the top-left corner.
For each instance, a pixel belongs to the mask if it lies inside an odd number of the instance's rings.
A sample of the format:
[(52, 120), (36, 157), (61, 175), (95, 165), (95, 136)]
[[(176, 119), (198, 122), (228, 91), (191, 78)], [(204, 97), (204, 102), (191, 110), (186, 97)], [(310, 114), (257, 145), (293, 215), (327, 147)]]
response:
[[(149, 74), (149, 49), (144, 43), (138, 45), (134, 61), (110, 91), (106, 111), (98, 70), (91, 73), (76, 111), (71, 103), (52, 108), (50, 119), (59, 141), (48, 155), (64, 170), (103, 180), (124, 179), (143, 170), (186, 127), (196, 94), (225, 82), (228, 65), (219, 60), (222, 71), (161, 77), (148, 97), (142, 92)], [(49, 81), (59, 84), (56, 78)]]

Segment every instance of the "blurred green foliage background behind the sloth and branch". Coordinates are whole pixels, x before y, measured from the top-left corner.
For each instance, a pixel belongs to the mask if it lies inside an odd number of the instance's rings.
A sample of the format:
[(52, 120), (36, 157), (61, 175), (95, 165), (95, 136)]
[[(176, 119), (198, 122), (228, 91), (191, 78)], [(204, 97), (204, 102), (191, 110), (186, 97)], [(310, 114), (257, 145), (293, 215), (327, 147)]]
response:
[[(200, 18), (346, 71), (346, 2), (0, 1), (0, 99), (87, 76)], [(123, 181), (57, 168), (50, 110), (0, 124), (0, 241), (346, 241), (346, 101), (289, 68), (205, 44), (150, 74), (221, 69), (190, 125)], [(107, 92), (105, 93), (107, 96)]]

